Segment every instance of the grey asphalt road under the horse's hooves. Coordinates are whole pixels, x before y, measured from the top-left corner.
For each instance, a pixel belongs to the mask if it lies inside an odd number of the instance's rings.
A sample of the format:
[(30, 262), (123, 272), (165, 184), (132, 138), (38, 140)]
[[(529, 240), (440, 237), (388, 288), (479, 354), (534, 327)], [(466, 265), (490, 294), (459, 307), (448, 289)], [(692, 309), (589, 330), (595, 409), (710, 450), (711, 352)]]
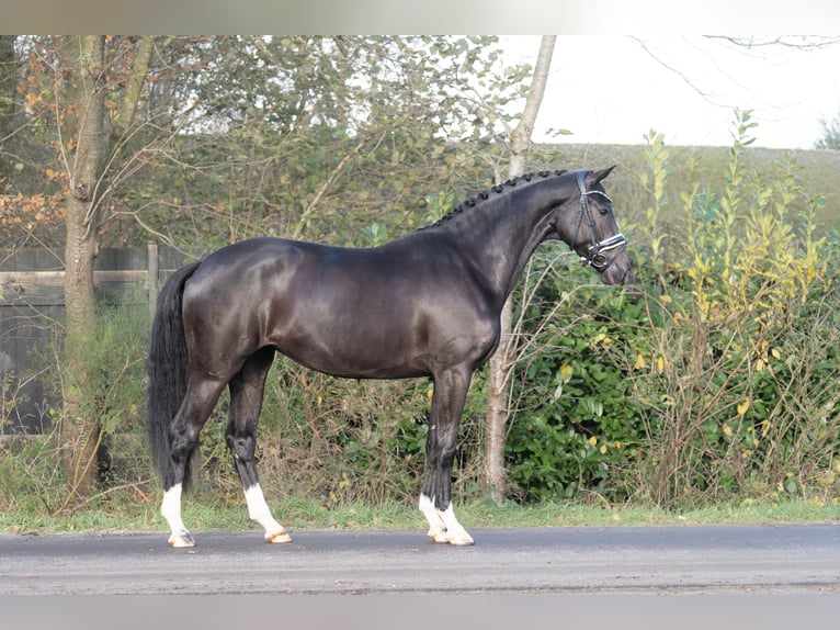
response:
[[(840, 525), (0, 536), (0, 594), (840, 595)], [(840, 607), (838, 607), (840, 610)]]

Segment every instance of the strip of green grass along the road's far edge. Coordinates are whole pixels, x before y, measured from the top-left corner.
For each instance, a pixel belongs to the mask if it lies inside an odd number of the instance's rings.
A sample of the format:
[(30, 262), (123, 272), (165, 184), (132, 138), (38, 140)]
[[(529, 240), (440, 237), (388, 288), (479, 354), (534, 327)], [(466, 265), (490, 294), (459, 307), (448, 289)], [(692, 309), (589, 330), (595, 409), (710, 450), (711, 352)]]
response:
[[(685, 511), (667, 511), (637, 506), (609, 506), (581, 502), (521, 506), (512, 502), (495, 506), (473, 500), (458, 507), (458, 518), (467, 528), (485, 527), (608, 527), (710, 524), (840, 522), (837, 502), (785, 498), (741, 500)], [(67, 516), (33, 515), (31, 511), (0, 514), (0, 532), (136, 532), (164, 531), (158, 503), (102, 502)], [(336, 505), (291, 498), (272, 505), (277, 519), (288, 529), (424, 529), (425, 521), (413, 505)], [(257, 526), (248, 520), (243, 505), (218, 506), (200, 497), (184, 500), (183, 516), (193, 531), (239, 531)]]

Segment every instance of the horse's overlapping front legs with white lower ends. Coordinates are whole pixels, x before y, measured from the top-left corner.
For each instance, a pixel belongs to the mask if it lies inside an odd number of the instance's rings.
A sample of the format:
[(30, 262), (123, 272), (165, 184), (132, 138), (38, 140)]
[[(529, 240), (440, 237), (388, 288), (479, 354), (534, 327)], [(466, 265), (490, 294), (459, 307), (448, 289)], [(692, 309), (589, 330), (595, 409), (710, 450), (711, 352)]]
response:
[(452, 463), (470, 376), (466, 368), (450, 369), (434, 376), (419, 506), (429, 521), (429, 538), (434, 542), (473, 544), (473, 537), (455, 518), (452, 507)]

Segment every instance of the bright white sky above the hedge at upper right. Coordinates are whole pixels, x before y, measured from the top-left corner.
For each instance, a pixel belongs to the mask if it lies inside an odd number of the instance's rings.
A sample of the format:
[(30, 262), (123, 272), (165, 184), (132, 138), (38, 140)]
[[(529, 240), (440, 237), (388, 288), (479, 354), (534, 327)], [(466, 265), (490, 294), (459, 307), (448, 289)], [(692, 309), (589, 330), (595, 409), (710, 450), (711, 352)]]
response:
[[(534, 65), (540, 36), (500, 40), (506, 64)], [(759, 123), (754, 146), (813, 148), (820, 117), (840, 114), (840, 42), (798, 50), (701, 36), (558, 36), (534, 140), (642, 144), (654, 128), (669, 145), (729, 146), (736, 108)]]

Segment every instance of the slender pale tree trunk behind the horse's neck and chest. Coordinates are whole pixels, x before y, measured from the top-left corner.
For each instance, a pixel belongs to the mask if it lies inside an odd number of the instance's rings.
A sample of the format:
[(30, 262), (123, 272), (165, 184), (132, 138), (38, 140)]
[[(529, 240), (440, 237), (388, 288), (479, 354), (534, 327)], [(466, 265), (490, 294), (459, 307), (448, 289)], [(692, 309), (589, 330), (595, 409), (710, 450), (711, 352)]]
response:
[[(511, 158), (508, 166), (508, 176), (511, 178), (521, 176), (525, 167), (531, 133), (534, 128), (536, 114), (540, 111), (540, 103), (545, 93), (545, 85), (548, 80), (548, 68), (552, 65), (552, 54), (556, 38), (555, 35), (543, 35), (540, 44), (540, 54), (534, 67), (531, 88), (527, 92), (525, 109), (510, 138)], [(487, 425), (485, 429), (485, 483), (490, 491), (490, 498), (496, 504), (501, 504), (504, 500), (504, 442), (508, 434), (508, 386), (515, 350), (515, 339), (511, 335), (512, 324), (511, 301), (508, 297), (501, 312), (501, 338), (499, 339), (499, 347), (490, 358)]]

